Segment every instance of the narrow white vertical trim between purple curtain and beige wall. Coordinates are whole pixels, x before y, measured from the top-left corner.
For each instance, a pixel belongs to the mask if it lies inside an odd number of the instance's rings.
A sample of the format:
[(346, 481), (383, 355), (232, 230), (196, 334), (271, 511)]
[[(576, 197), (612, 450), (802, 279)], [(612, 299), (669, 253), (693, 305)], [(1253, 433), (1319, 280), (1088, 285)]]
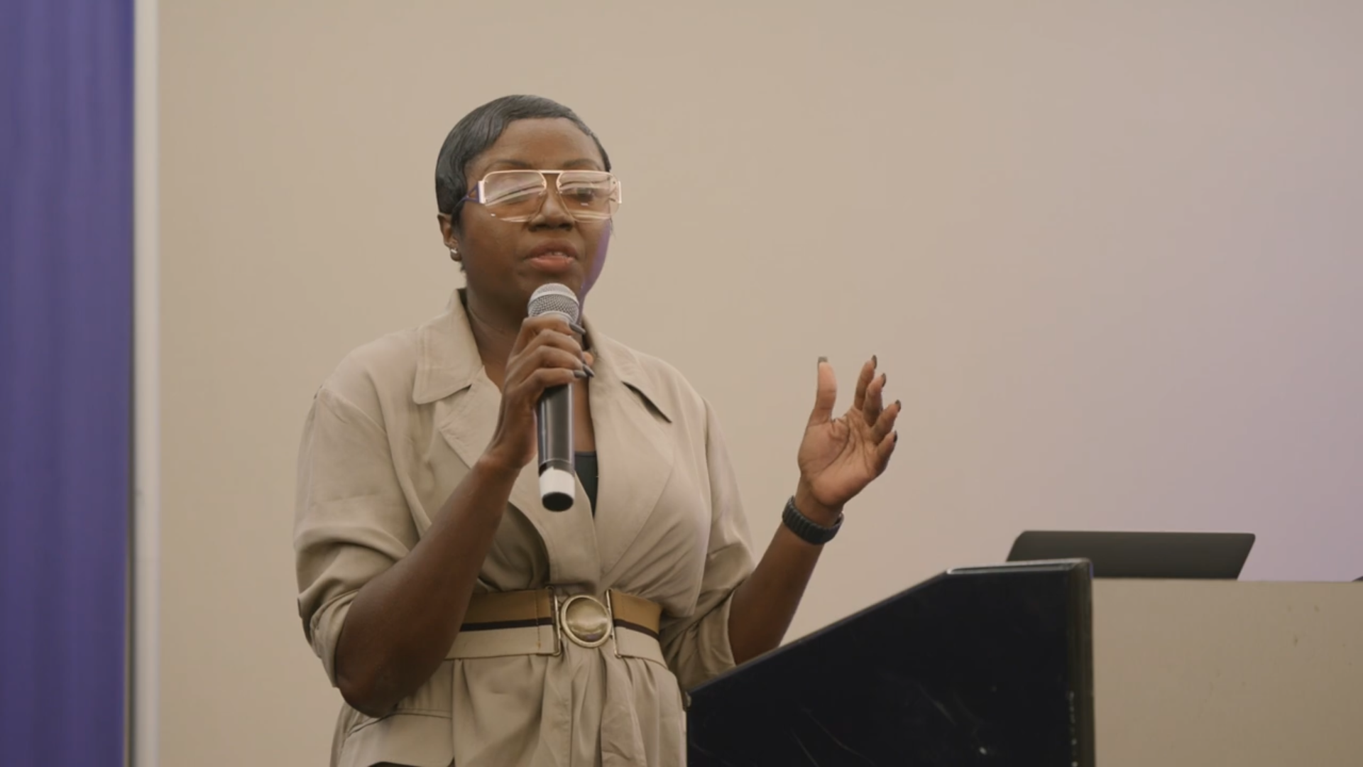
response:
[(158, 0), (134, 0), (132, 767), (157, 767), (161, 616), (161, 214)]

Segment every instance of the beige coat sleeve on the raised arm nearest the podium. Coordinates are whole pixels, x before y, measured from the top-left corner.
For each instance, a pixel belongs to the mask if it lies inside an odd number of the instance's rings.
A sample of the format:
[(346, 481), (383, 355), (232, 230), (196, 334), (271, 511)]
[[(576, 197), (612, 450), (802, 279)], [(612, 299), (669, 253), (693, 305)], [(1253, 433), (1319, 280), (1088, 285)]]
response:
[(706, 403), (706, 469), (710, 475), (710, 539), (696, 609), (662, 621), (662, 654), (690, 689), (735, 666), (729, 646), (733, 591), (752, 573), (748, 524), (718, 419)]

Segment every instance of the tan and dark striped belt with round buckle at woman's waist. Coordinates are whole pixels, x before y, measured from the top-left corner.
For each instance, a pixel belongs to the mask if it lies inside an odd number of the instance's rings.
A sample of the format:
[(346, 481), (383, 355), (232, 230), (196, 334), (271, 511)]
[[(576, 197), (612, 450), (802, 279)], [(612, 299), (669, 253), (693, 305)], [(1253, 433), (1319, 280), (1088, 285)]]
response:
[(448, 656), (557, 655), (564, 640), (592, 648), (613, 639), (617, 655), (665, 665), (661, 617), (656, 602), (616, 590), (604, 602), (552, 588), (474, 594)]

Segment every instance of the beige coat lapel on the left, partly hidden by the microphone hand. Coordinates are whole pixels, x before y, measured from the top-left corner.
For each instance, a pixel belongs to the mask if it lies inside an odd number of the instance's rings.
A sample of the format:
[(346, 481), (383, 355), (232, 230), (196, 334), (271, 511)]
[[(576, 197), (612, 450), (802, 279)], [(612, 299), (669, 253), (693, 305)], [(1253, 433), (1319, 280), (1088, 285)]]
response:
[[(446, 314), (417, 330), (417, 375), (412, 390), (416, 404), (435, 403), (435, 424), (455, 456), (472, 468), (497, 424), (502, 392), (483, 367), (473, 330), (455, 295)], [(551, 512), (540, 502), (538, 467), (530, 461), (511, 489), (511, 506), (540, 534), (555, 584), (596, 583), (600, 579), (596, 530), (586, 494), (566, 512)]]

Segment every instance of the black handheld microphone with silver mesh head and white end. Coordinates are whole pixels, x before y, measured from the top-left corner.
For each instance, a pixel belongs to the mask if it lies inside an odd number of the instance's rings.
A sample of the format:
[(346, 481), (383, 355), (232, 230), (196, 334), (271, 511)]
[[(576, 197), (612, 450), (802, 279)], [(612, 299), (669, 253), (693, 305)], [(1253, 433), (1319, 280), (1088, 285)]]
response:
[[(578, 321), (578, 296), (564, 285), (551, 283), (530, 295), (530, 317), (557, 314)], [(549, 386), (536, 407), (540, 431), (540, 501), (551, 512), (572, 506), (577, 494), (572, 465), (572, 392), (567, 385)]]

